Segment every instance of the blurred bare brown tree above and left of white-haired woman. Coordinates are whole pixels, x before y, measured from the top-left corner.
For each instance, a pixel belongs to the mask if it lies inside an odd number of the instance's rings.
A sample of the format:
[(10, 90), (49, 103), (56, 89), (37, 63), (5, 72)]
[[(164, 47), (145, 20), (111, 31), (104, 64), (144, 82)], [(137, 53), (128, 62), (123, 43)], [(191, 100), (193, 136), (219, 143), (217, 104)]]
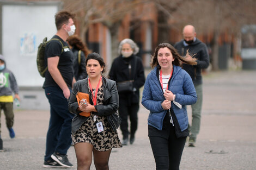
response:
[(102, 23), (111, 33), (112, 56), (116, 56), (118, 47), (118, 28), (125, 15), (129, 14), (142, 0), (63, 0), (64, 9), (77, 14), (80, 36), (86, 39), (86, 32), (90, 24)]

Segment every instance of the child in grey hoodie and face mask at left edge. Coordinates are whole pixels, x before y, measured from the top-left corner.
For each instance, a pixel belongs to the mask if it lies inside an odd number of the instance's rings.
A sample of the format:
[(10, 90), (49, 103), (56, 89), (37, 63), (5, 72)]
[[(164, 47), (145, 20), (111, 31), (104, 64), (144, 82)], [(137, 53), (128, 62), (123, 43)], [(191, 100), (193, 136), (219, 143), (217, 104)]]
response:
[[(14, 97), (13, 97), (14, 93)], [(5, 121), (7, 128), (9, 130), (9, 135), (11, 138), (15, 137), (13, 130), (14, 124), (14, 112), (13, 112), (13, 102), (14, 99), (20, 100), (19, 87), (17, 81), (14, 77), (13, 72), (11, 72), (7, 66), (3, 55), (0, 54), (0, 117), (1, 110), (4, 111)], [(1, 138), (1, 119), (0, 119), (0, 138)]]

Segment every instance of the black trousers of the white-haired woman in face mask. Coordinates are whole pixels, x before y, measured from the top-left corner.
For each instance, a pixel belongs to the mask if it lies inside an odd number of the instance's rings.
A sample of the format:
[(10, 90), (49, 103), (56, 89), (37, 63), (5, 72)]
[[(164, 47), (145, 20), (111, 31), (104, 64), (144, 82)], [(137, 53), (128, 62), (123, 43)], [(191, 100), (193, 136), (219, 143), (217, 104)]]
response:
[(123, 134), (123, 138), (128, 138), (129, 130), (128, 130), (128, 116), (130, 117), (130, 133), (131, 135), (135, 135), (135, 132), (138, 128), (138, 110), (139, 104), (132, 103), (130, 105), (127, 104), (125, 100), (119, 101), (119, 115), (122, 119), (120, 124), (120, 129)]

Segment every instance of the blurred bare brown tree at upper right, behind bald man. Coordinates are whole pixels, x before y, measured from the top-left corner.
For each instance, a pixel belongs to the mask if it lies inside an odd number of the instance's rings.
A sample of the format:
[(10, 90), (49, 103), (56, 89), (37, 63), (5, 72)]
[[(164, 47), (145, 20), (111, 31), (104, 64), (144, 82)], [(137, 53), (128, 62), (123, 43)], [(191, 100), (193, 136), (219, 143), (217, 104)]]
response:
[[(255, 23), (255, 5), (253, 0), (191, 0), (175, 1), (177, 10), (168, 10), (172, 4), (159, 3), (164, 12), (170, 14), (172, 27), (182, 29), (186, 24), (196, 26), (201, 34), (214, 33), (212, 66), (218, 70), (218, 39), (221, 34), (236, 36), (243, 24)], [(160, 8), (161, 10), (161, 8)]]

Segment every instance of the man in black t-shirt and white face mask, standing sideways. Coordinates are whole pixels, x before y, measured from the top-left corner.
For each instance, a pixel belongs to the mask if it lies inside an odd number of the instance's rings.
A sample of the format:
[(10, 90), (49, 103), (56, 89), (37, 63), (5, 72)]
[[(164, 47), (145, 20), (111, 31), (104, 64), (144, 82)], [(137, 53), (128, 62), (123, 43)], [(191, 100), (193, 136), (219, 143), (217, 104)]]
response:
[(71, 144), (71, 121), (74, 117), (68, 110), (73, 78), (73, 54), (66, 39), (75, 33), (74, 14), (60, 11), (55, 15), (57, 33), (45, 49), (45, 72), (43, 88), (50, 103), (50, 122), (46, 136), (46, 151), (43, 167), (73, 167), (66, 153)]

